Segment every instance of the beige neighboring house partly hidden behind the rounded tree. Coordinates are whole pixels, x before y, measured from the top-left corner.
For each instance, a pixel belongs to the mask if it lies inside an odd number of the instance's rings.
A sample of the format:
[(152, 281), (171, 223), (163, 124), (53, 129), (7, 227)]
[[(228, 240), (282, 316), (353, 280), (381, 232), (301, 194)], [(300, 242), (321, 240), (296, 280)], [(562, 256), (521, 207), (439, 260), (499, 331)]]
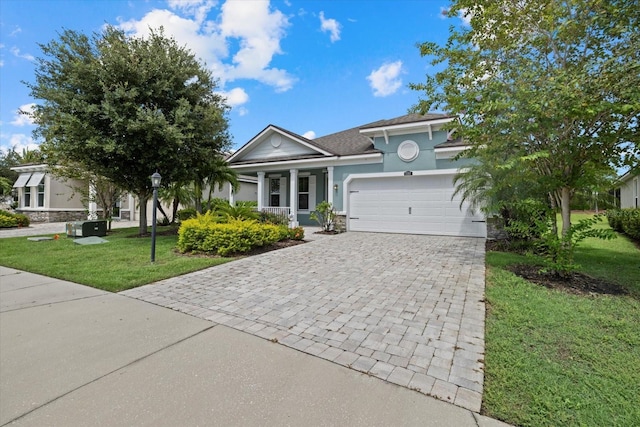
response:
[[(22, 165), (11, 168), (18, 172), (18, 179), (13, 184), (16, 212), (23, 213), (32, 222), (66, 222), (85, 220), (94, 217), (97, 207), (94, 203), (86, 203), (82, 196), (74, 192), (74, 187), (88, 184), (76, 181), (65, 181), (51, 173), (46, 164)], [(253, 177), (239, 177), (240, 189), (234, 193), (229, 183), (222, 190), (214, 188), (213, 197), (225, 200), (256, 200), (257, 182)], [(151, 181), (149, 181), (151, 183)], [(204, 195), (209, 189), (205, 188)], [(151, 212), (152, 201), (147, 204), (147, 212)], [(170, 207), (165, 206), (165, 212)], [(137, 221), (139, 203), (131, 194), (123, 195), (114, 206), (113, 219)], [(151, 216), (149, 215), (149, 218)]]

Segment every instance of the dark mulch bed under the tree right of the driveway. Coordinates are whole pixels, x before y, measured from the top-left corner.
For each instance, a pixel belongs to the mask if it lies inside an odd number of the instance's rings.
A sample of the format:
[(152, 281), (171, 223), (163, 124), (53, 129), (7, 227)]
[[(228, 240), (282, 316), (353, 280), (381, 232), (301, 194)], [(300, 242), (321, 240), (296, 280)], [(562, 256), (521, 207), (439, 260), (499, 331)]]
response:
[[(508, 251), (501, 242), (487, 240), (486, 250)], [(517, 264), (507, 268), (516, 276), (522, 277), (531, 283), (544, 286), (549, 289), (557, 289), (574, 295), (625, 295), (628, 291), (615, 283), (588, 276), (583, 273), (570, 273), (567, 277), (542, 271), (539, 265)]]

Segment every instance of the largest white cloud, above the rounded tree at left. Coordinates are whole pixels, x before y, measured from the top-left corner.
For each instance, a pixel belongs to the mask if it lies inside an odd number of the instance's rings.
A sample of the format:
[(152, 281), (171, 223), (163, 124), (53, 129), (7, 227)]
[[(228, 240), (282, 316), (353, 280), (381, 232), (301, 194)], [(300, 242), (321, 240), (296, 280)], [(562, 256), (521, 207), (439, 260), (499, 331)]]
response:
[[(216, 4), (212, 0), (169, 0), (172, 10), (154, 9), (139, 21), (121, 22), (120, 28), (144, 37), (149, 27), (163, 26), (165, 34), (206, 62), (223, 87), (236, 79), (253, 79), (277, 92), (291, 89), (296, 79), (286, 70), (270, 67), (273, 57), (282, 53), (280, 40), (289, 26), (287, 17), (271, 10), (268, 1), (227, 0), (217, 16), (207, 19)], [(236, 45), (239, 48), (230, 52), (230, 46)]]

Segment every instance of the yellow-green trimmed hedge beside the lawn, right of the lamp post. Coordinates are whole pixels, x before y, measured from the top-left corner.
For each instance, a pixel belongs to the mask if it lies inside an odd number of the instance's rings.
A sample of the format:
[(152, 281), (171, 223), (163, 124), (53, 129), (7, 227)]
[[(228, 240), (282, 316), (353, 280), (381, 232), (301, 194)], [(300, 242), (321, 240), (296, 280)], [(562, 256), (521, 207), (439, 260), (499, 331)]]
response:
[(218, 223), (214, 215), (185, 220), (178, 230), (178, 250), (227, 256), (288, 239), (289, 229), (257, 221), (231, 220)]

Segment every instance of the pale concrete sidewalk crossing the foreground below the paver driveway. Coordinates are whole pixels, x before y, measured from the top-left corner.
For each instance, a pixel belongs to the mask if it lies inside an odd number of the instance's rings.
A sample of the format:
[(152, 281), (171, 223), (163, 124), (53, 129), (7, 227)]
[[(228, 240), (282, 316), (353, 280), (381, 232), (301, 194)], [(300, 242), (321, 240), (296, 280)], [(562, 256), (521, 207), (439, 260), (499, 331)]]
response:
[(170, 309), (0, 267), (0, 425), (504, 425)]

